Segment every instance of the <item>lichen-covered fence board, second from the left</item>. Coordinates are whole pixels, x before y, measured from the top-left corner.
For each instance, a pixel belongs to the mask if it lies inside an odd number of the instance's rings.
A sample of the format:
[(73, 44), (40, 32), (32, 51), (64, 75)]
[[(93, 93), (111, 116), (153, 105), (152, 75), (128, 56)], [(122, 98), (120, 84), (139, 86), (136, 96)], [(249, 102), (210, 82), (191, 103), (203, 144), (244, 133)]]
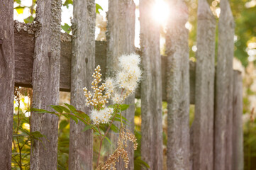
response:
[[(33, 60), (33, 108), (56, 105), (60, 89), (60, 0), (38, 0)], [(31, 145), (30, 169), (57, 169), (58, 118), (50, 114), (31, 114), (31, 132), (47, 137)]]

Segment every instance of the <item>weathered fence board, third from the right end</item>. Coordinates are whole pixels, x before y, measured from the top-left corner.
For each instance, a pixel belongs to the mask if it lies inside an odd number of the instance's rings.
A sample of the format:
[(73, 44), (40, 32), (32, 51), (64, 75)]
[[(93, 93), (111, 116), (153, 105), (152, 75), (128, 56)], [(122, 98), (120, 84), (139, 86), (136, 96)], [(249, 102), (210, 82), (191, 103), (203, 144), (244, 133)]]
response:
[(194, 170), (213, 170), (216, 19), (206, 0), (199, 0), (198, 3), (196, 98), (190, 149)]

